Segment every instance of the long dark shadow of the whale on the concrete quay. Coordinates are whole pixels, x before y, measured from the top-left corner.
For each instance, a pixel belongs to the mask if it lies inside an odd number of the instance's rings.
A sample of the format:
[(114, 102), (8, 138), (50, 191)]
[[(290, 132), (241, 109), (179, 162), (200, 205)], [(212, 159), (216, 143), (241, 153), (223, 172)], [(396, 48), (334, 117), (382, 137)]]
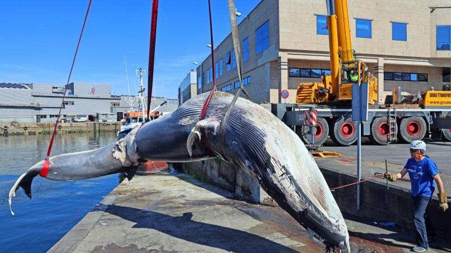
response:
[(105, 211), (136, 223), (134, 228), (156, 229), (161, 233), (233, 252), (297, 252), (266, 238), (233, 228), (194, 221), (193, 213), (182, 216), (113, 205)]

